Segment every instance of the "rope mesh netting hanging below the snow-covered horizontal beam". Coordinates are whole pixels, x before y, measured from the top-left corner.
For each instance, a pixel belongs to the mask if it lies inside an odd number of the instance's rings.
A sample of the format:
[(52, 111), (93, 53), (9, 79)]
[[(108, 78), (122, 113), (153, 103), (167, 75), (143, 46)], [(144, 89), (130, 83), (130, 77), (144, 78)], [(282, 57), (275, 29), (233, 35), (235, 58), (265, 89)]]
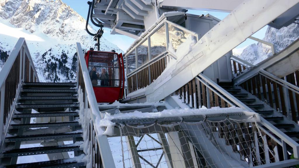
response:
[(122, 166), (248, 167), (277, 161), (252, 119), (118, 125)]

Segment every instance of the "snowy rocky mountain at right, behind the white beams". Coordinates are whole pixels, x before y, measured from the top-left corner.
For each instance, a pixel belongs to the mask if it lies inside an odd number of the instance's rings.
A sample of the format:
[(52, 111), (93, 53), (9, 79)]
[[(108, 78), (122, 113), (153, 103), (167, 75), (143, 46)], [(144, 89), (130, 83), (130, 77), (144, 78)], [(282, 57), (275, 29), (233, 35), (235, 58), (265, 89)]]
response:
[[(268, 26), (263, 40), (274, 44), (276, 51), (279, 52), (298, 39), (298, 37), (299, 24), (293, 23), (279, 30)], [(258, 42), (247, 46), (239, 57), (255, 65), (271, 55), (271, 47)]]

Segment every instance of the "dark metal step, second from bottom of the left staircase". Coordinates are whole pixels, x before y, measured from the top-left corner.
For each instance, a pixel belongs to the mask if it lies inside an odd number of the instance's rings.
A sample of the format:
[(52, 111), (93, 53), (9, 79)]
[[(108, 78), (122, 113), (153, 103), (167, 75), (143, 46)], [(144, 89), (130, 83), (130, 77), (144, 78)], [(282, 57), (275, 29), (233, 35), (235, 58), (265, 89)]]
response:
[(16, 156), (28, 156), (28, 155), (40, 155), (48, 153), (60, 153), (78, 151), (80, 146), (78, 145), (58, 145), (58, 146), (41, 146), (32, 148), (21, 148), (4, 151), (0, 154), (1, 158), (16, 157)]

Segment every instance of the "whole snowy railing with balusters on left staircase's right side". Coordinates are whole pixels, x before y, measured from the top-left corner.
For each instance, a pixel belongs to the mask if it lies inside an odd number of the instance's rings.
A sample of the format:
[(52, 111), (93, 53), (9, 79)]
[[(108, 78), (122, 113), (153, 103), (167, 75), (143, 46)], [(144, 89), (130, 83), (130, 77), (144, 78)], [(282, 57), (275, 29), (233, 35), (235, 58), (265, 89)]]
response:
[[(83, 128), (84, 153), (89, 158), (88, 165), (102, 163), (104, 168), (115, 168), (106, 135), (99, 126), (102, 119), (92, 88), (81, 44), (77, 42), (77, 86), (80, 101), (80, 120)], [(98, 159), (100, 158), (100, 159)], [(101, 160), (101, 161), (100, 161)]]

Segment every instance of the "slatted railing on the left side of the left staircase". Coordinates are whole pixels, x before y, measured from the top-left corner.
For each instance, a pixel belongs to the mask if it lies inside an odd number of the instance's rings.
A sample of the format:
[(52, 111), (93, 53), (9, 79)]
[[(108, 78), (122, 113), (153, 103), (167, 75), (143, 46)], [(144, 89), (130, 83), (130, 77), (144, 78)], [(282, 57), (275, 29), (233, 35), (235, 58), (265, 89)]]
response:
[[(22, 82), (39, 82), (25, 38), (19, 38), (0, 71), (0, 135), (4, 142)], [(2, 145), (1, 145), (2, 146)]]

